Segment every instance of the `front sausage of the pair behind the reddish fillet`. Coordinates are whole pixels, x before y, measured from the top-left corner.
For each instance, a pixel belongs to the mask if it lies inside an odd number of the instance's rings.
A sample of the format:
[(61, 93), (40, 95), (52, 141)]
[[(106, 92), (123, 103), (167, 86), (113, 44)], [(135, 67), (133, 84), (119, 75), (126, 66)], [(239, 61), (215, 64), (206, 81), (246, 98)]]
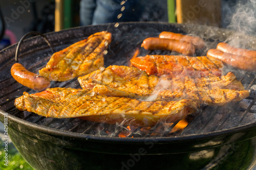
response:
[(195, 46), (189, 42), (155, 37), (144, 39), (141, 47), (144, 47), (146, 50), (175, 51), (184, 55), (193, 55), (196, 51)]

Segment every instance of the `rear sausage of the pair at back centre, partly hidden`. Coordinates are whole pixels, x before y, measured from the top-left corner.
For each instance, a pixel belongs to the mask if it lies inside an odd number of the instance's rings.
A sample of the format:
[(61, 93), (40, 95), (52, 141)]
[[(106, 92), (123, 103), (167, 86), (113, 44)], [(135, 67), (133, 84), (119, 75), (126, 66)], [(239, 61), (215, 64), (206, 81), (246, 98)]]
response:
[(163, 31), (159, 34), (159, 38), (175, 39), (179, 41), (190, 42), (195, 45), (196, 48), (203, 48), (205, 46), (204, 40), (199, 37), (193, 37), (188, 35), (182, 35), (179, 33), (172, 33)]

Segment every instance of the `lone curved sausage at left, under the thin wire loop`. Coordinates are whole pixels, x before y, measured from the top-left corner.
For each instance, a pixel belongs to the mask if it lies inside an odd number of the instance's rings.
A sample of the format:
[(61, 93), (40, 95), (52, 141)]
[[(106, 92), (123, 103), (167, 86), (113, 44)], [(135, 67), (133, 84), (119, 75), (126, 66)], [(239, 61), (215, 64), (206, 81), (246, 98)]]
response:
[(41, 91), (50, 87), (50, 81), (48, 78), (30, 72), (20, 63), (12, 65), (11, 75), (18, 83), (33, 90)]

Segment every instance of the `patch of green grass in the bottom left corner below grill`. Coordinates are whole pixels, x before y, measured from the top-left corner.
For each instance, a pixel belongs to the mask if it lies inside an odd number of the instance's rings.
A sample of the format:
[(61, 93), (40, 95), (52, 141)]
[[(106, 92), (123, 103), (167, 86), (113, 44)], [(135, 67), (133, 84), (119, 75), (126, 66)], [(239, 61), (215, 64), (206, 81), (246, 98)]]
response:
[(33, 170), (26, 160), (18, 153), (12, 142), (8, 143), (8, 166), (5, 165), (5, 143), (0, 139), (0, 169), (14, 170), (25, 169)]

